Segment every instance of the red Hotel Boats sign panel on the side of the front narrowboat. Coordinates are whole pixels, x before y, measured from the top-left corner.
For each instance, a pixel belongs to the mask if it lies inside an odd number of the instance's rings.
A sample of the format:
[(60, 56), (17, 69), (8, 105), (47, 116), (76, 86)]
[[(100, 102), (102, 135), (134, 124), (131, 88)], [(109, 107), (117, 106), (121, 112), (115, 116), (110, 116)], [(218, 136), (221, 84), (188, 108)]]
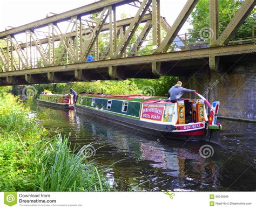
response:
[(161, 121), (164, 112), (164, 107), (144, 106), (142, 110), (142, 119)]

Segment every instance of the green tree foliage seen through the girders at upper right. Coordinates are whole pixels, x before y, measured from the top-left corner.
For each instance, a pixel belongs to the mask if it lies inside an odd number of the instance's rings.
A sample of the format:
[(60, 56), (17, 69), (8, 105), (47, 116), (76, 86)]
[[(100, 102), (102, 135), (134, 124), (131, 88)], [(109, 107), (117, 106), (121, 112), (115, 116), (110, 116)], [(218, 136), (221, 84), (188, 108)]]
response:
[[(233, 0), (220, 0), (219, 1), (219, 32), (223, 32), (230, 20), (234, 17), (235, 12), (238, 11), (243, 2)], [(255, 22), (256, 9), (254, 8), (251, 15), (248, 16), (242, 26), (239, 27), (238, 32), (234, 34), (233, 38), (251, 37), (252, 28), (251, 23)], [(209, 27), (209, 0), (200, 0), (196, 8), (191, 13), (188, 22), (193, 26), (188, 30), (194, 43), (202, 41), (200, 37), (200, 30), (207, 29)]]

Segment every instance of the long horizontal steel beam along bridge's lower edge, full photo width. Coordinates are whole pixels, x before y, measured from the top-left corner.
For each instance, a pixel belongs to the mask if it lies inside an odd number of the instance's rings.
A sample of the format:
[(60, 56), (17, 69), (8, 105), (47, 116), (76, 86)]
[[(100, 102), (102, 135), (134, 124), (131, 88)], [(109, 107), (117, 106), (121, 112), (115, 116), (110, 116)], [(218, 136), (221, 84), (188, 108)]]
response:
[(49, 66), (37, 69), (24, 69), (22, 71), (14, 72), (2, 72), (0, 78), (6, 76), (19, 76), (25, 74), (38, 74), (38, 72), (69, 72), (75, 71), (76, 69), (95, 69), (95, 68), (109, 68), (109, 66), (132, 66), (138, 64), (149, 64), (152, 60), (155, 62), (164, 61), (176, 61), (176, 60), (191, 60), (191, 59), (202, 59), (209, 58), (210, 56), (218, 55), (219, 57), (234, 55), (234, 54), (249, 54), (256, 53), (256, 46), (254, 44), (240, 44), (240, 45), (228, 45), (220, 47), (200, 48), (192, 51), (178, 51), (163, 54), (151, 54), (144, 55), (142, 57), (127, 57), (111, 60), (99, 60), (97, 62), (83, 62), (71, 65), (62, 66)]

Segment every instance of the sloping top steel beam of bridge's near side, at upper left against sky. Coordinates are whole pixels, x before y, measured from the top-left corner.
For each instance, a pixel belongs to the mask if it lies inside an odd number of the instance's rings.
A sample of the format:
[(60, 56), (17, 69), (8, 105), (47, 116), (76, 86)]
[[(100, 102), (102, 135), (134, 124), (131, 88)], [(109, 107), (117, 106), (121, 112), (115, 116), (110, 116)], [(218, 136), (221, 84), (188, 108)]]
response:
[(90, 15), (91, 13), (100, 12), (106, 6), (111, 6), (111, 5), (120, 6), (120, 5), (127, 4), (134, 1), (136, 0), (107, 0), (107, 1), (99, 1), (96, 3), (88, 4), (77, 9), (60, 13), (58, 15), (53, 15), (45, 19), (37, 20), (35, 22), (28, 23), (19, 27), (14, 27), (10, 30), (2, 31), (0, 32), (0, 39), (3, 39), (10, 34), (15, 35), (18, 33), (25, 32), (26, 30), (29, 30), (29, 29), (35, 30), (44, 26), (48, 26), (48, 24), (50, 23), (56, 24), (58, 22), (63, 22), (65, 20), (69, 20), (73, 16), (85, 16), (85, 15)]

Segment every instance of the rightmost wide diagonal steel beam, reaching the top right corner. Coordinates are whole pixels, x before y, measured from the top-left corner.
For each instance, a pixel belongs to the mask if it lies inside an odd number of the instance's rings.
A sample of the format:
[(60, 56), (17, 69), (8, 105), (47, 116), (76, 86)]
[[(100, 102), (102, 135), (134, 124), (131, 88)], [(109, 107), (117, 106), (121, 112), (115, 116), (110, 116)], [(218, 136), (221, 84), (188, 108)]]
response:
[(253, 10), (256, 5), (255, 0), (245, 0), (242, 3), (241, 8), (235, 13), (234, 17), (228, 23), (225, 30), (220, 34), (219, 38), (216, 41), (218, 46), (226, 45), (233, 34), (238, 30), (240, 25), (244, 22), (250, 12)]

